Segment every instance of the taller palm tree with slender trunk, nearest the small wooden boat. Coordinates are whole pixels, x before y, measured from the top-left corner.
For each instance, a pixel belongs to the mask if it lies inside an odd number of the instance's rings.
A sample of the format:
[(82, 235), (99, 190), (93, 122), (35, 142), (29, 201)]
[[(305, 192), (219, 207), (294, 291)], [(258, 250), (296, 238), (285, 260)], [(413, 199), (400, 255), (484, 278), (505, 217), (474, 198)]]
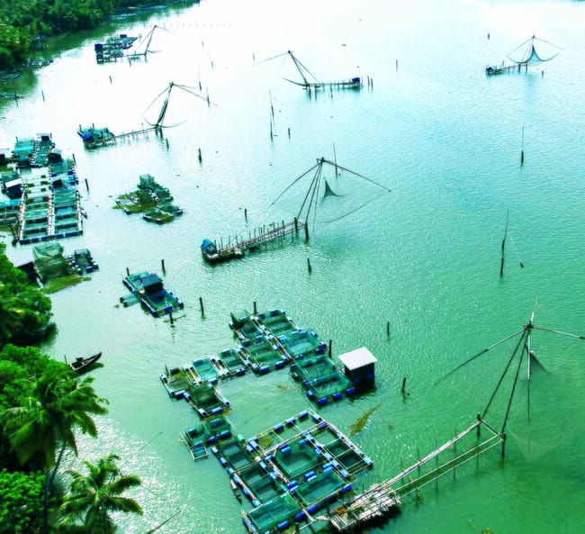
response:
[[(4, 430), (24, 464), (40, 466), (45, 472), (44, 530), (49, 523), (49, 490), (63, 453), (77, 454), (75, 430), (97, 436), (91, 415), (107, 413), (105, 399), (92, 387), (93, 377), (79, 380), (71, 375), (43, 374), (33, 382), (31, 394), (21, 406), (6, 410)], [(57, 452), (58, 451), (58, 452)]]

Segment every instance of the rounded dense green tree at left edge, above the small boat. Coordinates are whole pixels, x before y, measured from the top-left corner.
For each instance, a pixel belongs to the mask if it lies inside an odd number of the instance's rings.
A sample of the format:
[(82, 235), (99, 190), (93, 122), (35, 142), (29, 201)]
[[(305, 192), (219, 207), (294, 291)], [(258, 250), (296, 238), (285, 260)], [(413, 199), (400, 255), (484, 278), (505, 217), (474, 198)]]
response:
[(48, 297), (29, 284), (23, 271), (14, 267), (0, 244), (0, 348), (8, 342), (30, 345), (54, 329)]

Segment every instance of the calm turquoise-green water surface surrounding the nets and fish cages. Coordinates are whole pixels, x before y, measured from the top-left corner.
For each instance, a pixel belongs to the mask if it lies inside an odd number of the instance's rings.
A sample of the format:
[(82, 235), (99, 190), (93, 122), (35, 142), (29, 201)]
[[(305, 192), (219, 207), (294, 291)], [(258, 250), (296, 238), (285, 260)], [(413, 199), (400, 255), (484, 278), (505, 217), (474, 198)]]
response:
[[(82, 450), (90, 458), (114, 450), (127, 471), (142, 477), (144, 518), (121, 519), (123, 531), (144, 532), (177, 511), (157, 531), (243, 531), (219, 464), (213, 458), (193, 464), (178, 443), (194, 413), (171, 403), (157, 377), (165, 365), (234, 347), (231, 311), (251, 311), (255, 301), (259, 310), (284, 308), (300, 326), (333, 339), (336, 354), (372, 350), (379, 359), (375, 392), (321, 410), (348, 430), (379, 406), (355, 439), (375, 462), (368, 483), (473, 421), (513, 343), (439, 385), (435, 380), (520, 330), (536, 302), (536, 324), (585, 334), (584, 21), (582, 2), (210, 0), (63, 39), (54, 63), (16, 81), (24, 98), (18, 106), (3, 101), (0, 144), (51, 131), (58, 148), (76, 156), (89, 217), (85, 235), (62, 244), (67, 251), (91, 249), (101, 269), (52, 297), (58, 337), (44, 349), (59, 359), (103, 350), (95, 386), (110, 400), (110, 413), (99, 422), (100, 439), (82, 439)], [(155, 24), (157, 53), (147, 61), (95, 64), (95, 41), (109, 32), (146, 35)], [(532, 34), (563, 48), (544, 76), (540, 68), (484, 76), (487, 63), (499, 63)], [(286, 50), (318, 77), (370, 76), (374, 87), (311, 99), (282, 79), (294, 76), (288, 60), (254, 65)], [(175, 87), (166, 115), (175, 127), (164, 130), (164, 139), (150, 135), (84, 151), (79, 124), (137, 130), (156, 120), (157, 95), (170, 82), (197, 89), (201, 83), (215, 105)], [(372, 192), (356, 186), (344, 202), (369, 204), (336, 222), (323, 222), (331, 220), (324, 213), (307, 245), (218, 267), (202, 263), (204, 237), (225, 240), (290, 220), (298, 192), (270, 204), (316, 158), (336, 155), (392, 193), (369, 202)], [(133, 189), (144, 173), (171, 189), (182, 218), (157, 227), (112, 209), (113, 196)], [(29, 260), (31, 248), (9, 247), (8, 254)], [(160, 273), (163, 258), (166, 287), (185, 302), (174, 326), (118, 305), (127, 293), (126, 267)], [(398, 520), (375, 531), (585, 528), (585, 346), (535, 331), (533, 349), (548, 372), (533, 376), (529, 425), (527, 381), (520, 379), (505, 462), (497, 452), (483, 457), (479, 471), (464, 470), (455, 482), (447, 477), (438, 492), (424, 489), (424, 504), (407, 502)], [(309, 406), (286, 371), (222, 390), (233, 405), (230, 419), (246, 437)], [(507, 396), (488, 415), (498, 427)]]

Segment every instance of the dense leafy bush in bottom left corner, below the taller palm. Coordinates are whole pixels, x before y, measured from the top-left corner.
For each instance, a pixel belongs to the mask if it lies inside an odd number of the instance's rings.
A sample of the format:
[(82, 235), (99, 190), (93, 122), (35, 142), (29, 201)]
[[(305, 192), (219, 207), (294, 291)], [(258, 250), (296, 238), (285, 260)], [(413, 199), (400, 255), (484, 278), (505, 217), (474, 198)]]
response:
[(45, 476), (0, 471), (0, 534), (40, 532)]

